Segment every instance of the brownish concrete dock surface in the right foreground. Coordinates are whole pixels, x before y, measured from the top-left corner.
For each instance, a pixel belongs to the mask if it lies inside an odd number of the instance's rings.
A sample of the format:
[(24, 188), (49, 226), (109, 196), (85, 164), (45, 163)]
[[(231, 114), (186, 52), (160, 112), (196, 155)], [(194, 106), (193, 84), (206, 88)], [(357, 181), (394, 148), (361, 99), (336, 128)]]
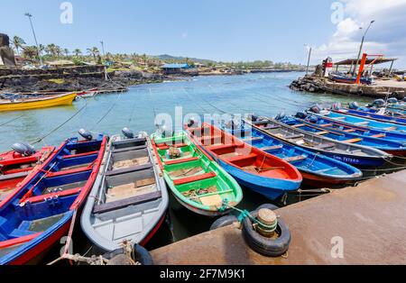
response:
[(406, 264), (406, 171), (281, 208), (277, 215), (291, 230), (287, 257), (252, 251), (235, 224), (152, 251), (153, 260), (168, 265)]

